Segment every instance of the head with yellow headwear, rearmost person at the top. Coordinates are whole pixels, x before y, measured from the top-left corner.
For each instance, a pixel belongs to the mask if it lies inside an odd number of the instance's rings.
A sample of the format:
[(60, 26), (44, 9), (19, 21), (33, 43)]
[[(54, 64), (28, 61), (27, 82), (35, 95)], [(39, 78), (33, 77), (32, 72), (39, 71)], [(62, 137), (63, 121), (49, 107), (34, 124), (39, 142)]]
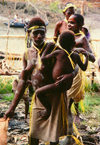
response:
[(71, 2), (67, 2), (66, 6), (63, 10), (63, 14), (65, 15), (66, 19), (68, 20), (68, 18), (75, 13), (75, 5)]

